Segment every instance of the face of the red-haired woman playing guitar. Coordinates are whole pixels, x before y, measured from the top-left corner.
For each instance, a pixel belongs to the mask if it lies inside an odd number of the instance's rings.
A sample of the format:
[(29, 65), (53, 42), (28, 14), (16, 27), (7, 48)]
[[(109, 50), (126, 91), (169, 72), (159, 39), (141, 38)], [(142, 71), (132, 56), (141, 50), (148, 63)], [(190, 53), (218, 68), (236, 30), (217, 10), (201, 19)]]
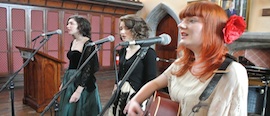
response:
[(189, 49), (200, 49), (202, 44), (202, 28), (201, 18), (197, 16), (186, 17), (178, 24), (180, 28), (181, 41), (179, 44)]

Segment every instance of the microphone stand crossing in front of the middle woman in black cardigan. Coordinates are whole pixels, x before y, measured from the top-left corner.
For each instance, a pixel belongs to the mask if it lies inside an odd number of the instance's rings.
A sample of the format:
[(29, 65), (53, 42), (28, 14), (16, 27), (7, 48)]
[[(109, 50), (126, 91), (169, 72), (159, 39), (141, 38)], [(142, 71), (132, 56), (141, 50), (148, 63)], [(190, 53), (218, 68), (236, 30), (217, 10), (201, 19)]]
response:
[(116, 92), (113, 93), (112, 97), (110, 98), (108, 103), (104, 106), (99, 116), (103, 116), (106, 110), (114, 103), (114, 101), (119, 95), (120, 89), (122, 88), (124, 83), (127, 81), (127, 79), (129, 78), (129, 76), (131, 75), (131, 73), (133, 72), (137, 64), (139, 63), (139, 61), (144, 58), (148, 49), (149, 47), (142, 47), (141, 50), (137, 53), (136, 59), (134, 60), (130, 68), (128, 69), (127, 73), (124, 75), (121, 83), (117, 86)]

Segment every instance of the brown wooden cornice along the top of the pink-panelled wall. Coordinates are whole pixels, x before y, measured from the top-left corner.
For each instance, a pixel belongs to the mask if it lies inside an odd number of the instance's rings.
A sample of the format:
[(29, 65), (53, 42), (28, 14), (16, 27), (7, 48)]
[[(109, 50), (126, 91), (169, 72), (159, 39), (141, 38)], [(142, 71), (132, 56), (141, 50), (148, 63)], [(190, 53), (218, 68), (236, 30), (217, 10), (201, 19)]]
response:
[[(7, 0), (8, 1), (8, 0)], [(36, 6), (47, 6), (47, 7), (56, 7), (56, 8), (66, 8), (66, 9), (76, 9), (76, 10), (85, 10), (85, 11), (97, 11), (113, 14), (134, 14), (142, 8), (139, 3), (138, 5), (131, 5), (127, 1), (127, 4), (123, 3), (122, 6), (116, 7), (119, 4), (112, 2), (107, 3), (103, 1), (68, 1), (68, 0), (9, 0), (10, 3), (16, 4), (28, 4)]]

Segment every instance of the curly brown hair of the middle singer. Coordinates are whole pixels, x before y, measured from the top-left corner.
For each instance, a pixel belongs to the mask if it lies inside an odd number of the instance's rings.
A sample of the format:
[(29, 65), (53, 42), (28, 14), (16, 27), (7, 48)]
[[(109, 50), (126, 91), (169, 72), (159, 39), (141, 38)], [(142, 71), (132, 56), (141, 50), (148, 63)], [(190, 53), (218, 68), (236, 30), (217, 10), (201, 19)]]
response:
[(125, 26), (130, 29), (134, 39), (146, 39), (149, 37), (150, 28), (143, 18), (135, 14), (129, 14), (120, 17), (120, 22), (121, 21), (123, 21)]

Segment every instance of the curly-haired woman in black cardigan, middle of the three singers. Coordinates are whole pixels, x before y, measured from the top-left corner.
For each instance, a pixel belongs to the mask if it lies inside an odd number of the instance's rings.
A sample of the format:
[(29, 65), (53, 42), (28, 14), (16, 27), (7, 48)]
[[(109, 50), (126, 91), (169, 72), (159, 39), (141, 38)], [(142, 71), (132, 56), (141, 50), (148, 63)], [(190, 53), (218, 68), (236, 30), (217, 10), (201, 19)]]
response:
[[(119, 31), (121, 40), (124, 42), (147, 39), (149, 37), (149, 27), (141, 17), (136, 15), (125, 15), (120, 17)], [(120, 50), (118, 71), (119, 82), (116, 82), (115, 89), (136, 59), (140, 49), (140, 45), (129, 45)], [(157, 76), (156, 57), (155, 50), (149, 48), (145, 57), (139, 61), (131, 75), (128, 77), (128, 80), (122, 86), (118, 99), (110, 108), (110, 116), (123, 116), (123, 110), (126, 103), (144, 84)]]

